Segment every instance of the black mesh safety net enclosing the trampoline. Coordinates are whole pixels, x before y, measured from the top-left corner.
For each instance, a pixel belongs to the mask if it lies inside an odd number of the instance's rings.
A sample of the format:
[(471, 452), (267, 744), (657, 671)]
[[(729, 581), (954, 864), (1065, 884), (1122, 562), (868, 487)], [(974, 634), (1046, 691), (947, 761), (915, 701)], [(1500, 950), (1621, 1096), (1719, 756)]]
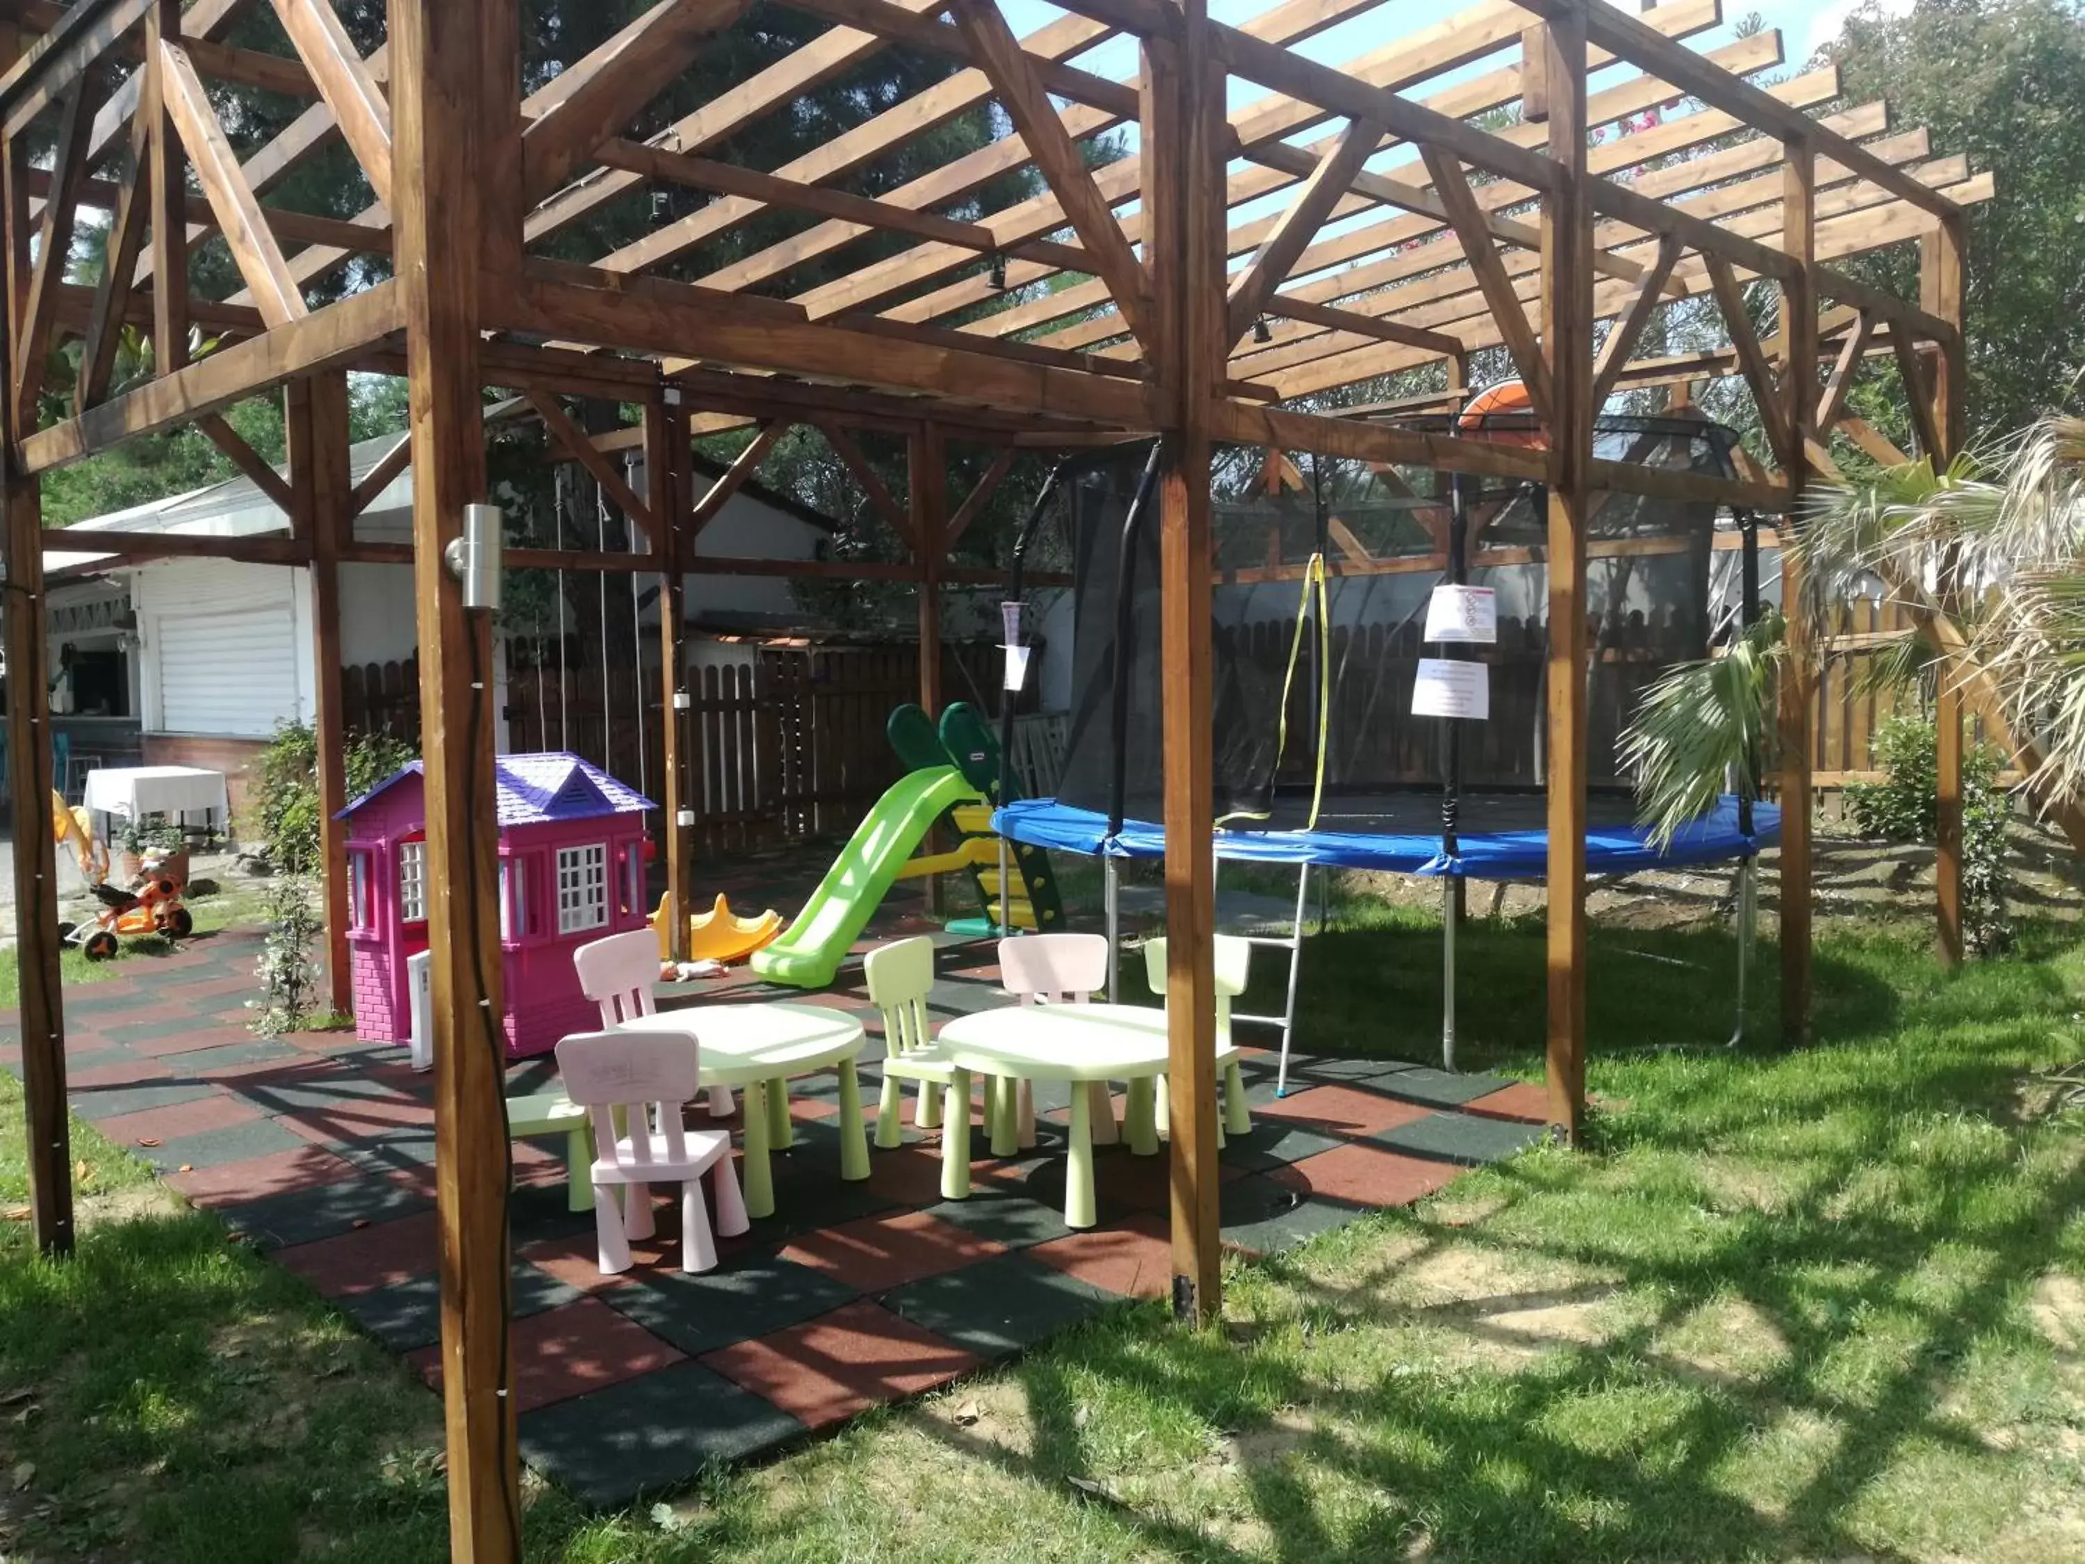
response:
[[(1432, 434), (1455, 419), (1403, 419)], [(1524, 415), (1464, 432), (1539, 440)], [(1595, 455), (1728, 475), (1735, 436), (1685, 417), (1603, 417)], [(1124, 530), (1145, 450), (1063, 490), (1074, 559), (1074, 682), (1059, 799), (1159, 820), (1157, 505)], [(1460, 490), (1460, 494), (1455, 492)], [(1455, 513), (1460, 509), (1460, 526)], [(1520, 480), (1412, 465), (1224, 448), (1216, 461), (1216, 811), (1232, 828), (1303, 824), (1328, 799), (1439, 784), (1443, 724), (1416, 719), (1426, 603), (1460, 578), (1497, 592), (1489, 722), (1460, 724), (1466, 788), (1545, 784), (1547, 496)], [(1589, 782), (1620, 786), (1616, 742), (1639, 690), (1708, 655), (1735, 617), (1737, 526), (1708, 503), (1597, 492), (1587, 528)], [(1322, 590), (1314, 584), (1322, 561)], [(1120, 703), (1120, 709), (1118, 709)], [(1320, 724), (1320, 709), (1324, 722)]]

